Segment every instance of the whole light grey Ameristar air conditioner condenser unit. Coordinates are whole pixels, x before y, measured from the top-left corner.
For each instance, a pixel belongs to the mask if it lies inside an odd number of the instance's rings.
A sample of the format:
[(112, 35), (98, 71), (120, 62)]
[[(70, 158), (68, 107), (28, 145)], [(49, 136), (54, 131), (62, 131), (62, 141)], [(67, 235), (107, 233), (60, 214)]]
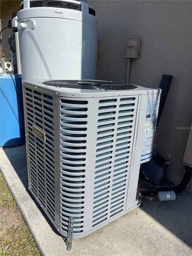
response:
[(86, 236), (140, 205), (161, 89), (23, 80), (29, 190), (62, 236)]

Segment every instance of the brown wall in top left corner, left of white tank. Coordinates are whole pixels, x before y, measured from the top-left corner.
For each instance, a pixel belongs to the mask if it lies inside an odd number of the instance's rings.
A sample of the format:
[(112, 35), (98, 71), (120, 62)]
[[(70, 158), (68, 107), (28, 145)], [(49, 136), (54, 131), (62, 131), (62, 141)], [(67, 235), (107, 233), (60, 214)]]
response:
[[(2, 29), (8, 26), (8, 21), (13, 19), (14, 14), (16, 14), (20, 10), (20, 3), (22, 1), (7, 1), (4, 5), (1, 6), (1, 27)], [(8, 42), (7, 37), (12, 34), (12, 29), (4, 29), (2, 31), (2, 46), (3, 53), (6, 58), (9, 58), (9, 50), (8, 50)]]

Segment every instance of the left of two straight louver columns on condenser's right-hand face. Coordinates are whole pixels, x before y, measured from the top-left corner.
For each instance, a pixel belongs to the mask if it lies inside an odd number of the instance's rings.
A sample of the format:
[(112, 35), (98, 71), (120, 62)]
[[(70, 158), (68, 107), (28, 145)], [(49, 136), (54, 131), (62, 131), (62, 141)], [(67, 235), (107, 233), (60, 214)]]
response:
[(92, 227), (108, 218), (116, 103), (117, 99), (99, 101)]

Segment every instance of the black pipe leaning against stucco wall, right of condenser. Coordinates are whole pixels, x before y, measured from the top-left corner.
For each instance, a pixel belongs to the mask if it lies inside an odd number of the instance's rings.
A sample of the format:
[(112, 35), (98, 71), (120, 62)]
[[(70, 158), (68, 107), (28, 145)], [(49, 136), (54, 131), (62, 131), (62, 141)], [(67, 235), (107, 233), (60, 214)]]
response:
[[(167, 98), (167, 93), (169, 91), (169, 87), (170, 87), (172, 78), (173, 78), (173, 76), (163, 74), (162, 79), (161, 79), (161, 83), (160, 83), (159, 88), (162, 89), (162, 92), (161, 92), (161, 98), (160, 98), (160, 103), (159, 103), (157, 127), (158, 127), (158, 123), (159, 123), (159, 120), (160, 120), (160, 117), (161, 117), (161, 113), (163, 111), (165, 100)], [(156, 127), (156, 129), (157, 129), (157, 127)]]

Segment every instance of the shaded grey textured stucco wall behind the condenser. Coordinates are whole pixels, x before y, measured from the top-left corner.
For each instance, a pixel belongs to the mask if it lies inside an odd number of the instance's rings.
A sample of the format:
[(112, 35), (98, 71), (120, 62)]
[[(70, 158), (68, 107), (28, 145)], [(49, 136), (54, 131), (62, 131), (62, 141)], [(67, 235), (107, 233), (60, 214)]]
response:
[[(178, 184), (192, 120), (192, 2), (88, 1), (99, 20), (98, 79), (126, 82), (128, 38), (140, 38), (140, 56), (131, 61), (130, 83), (159, 87), (173, 75), (156, 133), (155, 148), (167, 159)], [(188, 190), (192, 192), (192, 187)]]

